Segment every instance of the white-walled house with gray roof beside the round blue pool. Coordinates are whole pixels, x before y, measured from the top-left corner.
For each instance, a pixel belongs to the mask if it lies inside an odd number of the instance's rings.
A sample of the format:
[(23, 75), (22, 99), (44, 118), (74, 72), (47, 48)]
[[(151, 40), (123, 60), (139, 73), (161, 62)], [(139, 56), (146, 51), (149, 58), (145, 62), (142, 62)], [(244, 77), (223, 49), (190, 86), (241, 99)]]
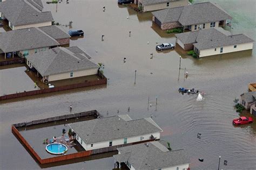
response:
[(157, 140), (163, 131), (152, 118), (132, 120), (128, 115), (103, 117), (69, 126), (86, 151)]

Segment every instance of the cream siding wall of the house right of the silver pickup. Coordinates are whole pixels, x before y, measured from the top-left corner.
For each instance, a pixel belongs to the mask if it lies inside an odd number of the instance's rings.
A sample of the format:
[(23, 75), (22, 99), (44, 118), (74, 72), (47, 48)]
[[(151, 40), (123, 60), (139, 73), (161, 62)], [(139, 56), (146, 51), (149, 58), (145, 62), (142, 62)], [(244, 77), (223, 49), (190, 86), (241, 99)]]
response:
[(199, 57), (203, 56), (209, 56), (209, 55), (217, 55), (217, 54), (225, 54), (225, 53), (232, 53), (232, 52), (237, 52), (237, 51), (244, 51), (247, 49), (252, 49), (253, 48), (253, 43), (245, 43), (245, 44), (238, 44), (237, 48), (234, 48), (234, 45), (231, 46), (224, 46), (223, 47), (223, 53), (220, 53), (220, 47), (216, 48), (216, 51), (214, 48), (210, 49), (202, 49), (200, 50), (200, 55)]

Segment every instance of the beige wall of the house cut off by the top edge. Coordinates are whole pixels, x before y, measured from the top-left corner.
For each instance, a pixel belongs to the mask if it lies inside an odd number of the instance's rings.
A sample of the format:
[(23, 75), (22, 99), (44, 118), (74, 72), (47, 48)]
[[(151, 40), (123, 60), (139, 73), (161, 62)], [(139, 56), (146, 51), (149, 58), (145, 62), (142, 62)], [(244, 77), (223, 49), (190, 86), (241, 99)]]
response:
[(170, 2), (169, 6), (167, 6), (167, 3), (160, 3), (160, 4), (153, 4), (153, 5), (144, 5), (143, 11), (155, 11), (155, 10), (162, 10), (166, 8), (175, 8), (178, 6), (186, 6), (188, 5), (187, 0), (180, 0), (180, 1), (174, 1)]

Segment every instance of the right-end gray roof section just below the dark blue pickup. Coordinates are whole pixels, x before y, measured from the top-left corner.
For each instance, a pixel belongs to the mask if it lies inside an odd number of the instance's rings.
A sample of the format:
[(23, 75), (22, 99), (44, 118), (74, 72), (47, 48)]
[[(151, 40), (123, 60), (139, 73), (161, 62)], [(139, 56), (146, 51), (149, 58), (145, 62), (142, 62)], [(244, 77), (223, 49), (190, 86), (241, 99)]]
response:
[(51, 36), (54, 39), (63, 39), (63, 38), (70, 38), (70, 35), (66, 33), (62, 27), (57, 25), (51, 25), (51, 26), (43, 26), (39, 27), (40, 30), (44, 31), (46, 34)]

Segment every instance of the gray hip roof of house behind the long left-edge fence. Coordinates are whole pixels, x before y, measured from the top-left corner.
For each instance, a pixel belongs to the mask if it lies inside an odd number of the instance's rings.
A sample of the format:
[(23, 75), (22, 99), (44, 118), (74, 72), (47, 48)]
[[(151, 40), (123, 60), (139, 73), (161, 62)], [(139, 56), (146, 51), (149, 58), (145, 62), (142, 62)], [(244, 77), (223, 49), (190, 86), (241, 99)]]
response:
[(77, 58), (75, 53), (64, 47), (56, 47), (28, 55), (26, 59), (32, 63), (33, 67), (35, 67), (42, 76), (99, 67), (85, 56), (83, 59)]

